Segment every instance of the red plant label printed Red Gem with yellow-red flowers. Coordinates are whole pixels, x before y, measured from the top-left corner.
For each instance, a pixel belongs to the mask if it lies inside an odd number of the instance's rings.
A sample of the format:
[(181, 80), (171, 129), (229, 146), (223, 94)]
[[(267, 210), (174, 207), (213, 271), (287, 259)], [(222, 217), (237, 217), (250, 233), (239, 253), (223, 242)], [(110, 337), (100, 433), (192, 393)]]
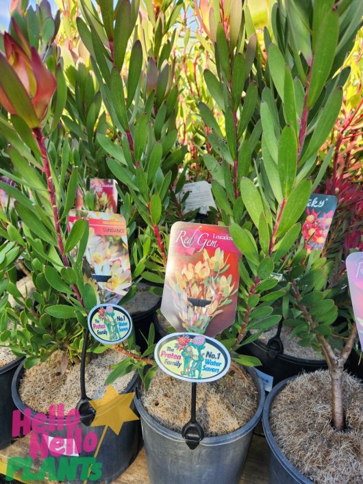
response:
[(161, 311), (177, 331), (215, 336), (236, 318), (241, 253), (228, 227), (171, 227)]

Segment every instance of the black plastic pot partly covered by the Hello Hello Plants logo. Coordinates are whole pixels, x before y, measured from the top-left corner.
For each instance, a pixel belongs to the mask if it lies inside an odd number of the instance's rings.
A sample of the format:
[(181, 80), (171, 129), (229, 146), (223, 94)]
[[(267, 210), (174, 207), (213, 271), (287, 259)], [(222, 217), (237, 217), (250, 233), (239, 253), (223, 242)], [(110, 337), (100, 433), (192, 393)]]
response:
[[(21, 376), (23, 374), (24, 368), (23, 365), (19, 366), (18, 370), (14, 374), (14, 378), (12, 380), (12, 398), (14, 399), (14, 403), (18, 409), (24, 413), (27, 407), (21, 400), (21, 397), (18, 394), (18, 387), (21, 381)], [(138, 373), (136, 372), (134, 378), (129, 383), (125, 392), (128, 393), (134, 391), (136, 384), (138, 382)], [(134, 404), (132, 404), (132, 409), (135, 410)], [(36, 412), (32, 410), (32, 419), (36, 416)], [(56, 420), (58, 422), (58, 420)], [(62, 418), (62, 422), (65, 422), (65, 419)], [(49, 418), (47, 418), (46, 423), (49, 423)], [(97, 442), (99, 442), (103, 430), (105, 429), (104, 426), (85, 426), (81, 422), (77, 424), (78, 428), (82, 429), (82, 442), (84, 441), (84, 437), (90, 433), (95, 432), (97, 434)], [(62, 437), (66, 438), (66, 429), (59, 430), (59, 431), (52, 431), (49, 432), (50, 437)], [(140, 429), (140, 420), (134, 420), (132, 422), (124, 422), (123, 426), (121, 427), (121, 431), (118, 435), (108, 427), (105, 433), (105, 437), (99, 448), (99, 453), (97, 455), (97, 462), (102, 463), (102, 475), (101, 478), (93, 483), (111, 483), (120, 476), (134, 461), (136, 455), (138, 455), (138, 451), (140, 450), (141, 446), (141, 429)], [(95, 450), (91, 453), (86, 453), (84, 450), (79, 451), (79, 457), (93, 457), (95, 454)], [(54, 457), (55, 459), (55, 468), (58, 468), (58, 463), (61, 457)], [(81, 479), (80, 477), (80, 466), (77, 468), (77, 476), (74, 480), (64, 480), (66, 483), (72, 484), (83, 484), (85, 479)]]

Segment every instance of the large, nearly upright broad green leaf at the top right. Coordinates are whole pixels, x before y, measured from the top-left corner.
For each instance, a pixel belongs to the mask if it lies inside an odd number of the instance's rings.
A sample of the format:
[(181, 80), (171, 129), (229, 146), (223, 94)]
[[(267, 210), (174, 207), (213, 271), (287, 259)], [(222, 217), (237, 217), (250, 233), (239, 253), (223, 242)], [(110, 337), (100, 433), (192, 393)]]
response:
[(329, 10), (325, 14), (319, 28), (318, 37), (314, 49), (310, 88), (306, 99), (306, 107), (309, 109), (318, 99), (325, 81), (329, 76), (331, 66), (334, 62), (336, 46), (339, 35), (339, 16), (337, 12)]

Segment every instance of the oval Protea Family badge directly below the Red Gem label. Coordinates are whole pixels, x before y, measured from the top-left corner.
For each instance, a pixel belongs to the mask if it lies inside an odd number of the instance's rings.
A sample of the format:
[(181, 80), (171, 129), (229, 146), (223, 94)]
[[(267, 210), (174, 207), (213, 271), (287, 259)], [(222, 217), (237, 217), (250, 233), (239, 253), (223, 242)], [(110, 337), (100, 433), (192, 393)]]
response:
[(155, 347), (154, 357), (162, 371), (191, 383), (218, 380), (231, 365), (231, 357), (221, 342), (193, 333), (164, 336)]

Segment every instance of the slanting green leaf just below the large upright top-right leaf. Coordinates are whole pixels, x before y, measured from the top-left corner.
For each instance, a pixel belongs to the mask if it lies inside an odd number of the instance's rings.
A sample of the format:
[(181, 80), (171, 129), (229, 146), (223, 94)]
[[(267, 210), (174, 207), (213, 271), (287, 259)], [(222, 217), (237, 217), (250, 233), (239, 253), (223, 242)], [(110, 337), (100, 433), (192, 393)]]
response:
[(318, 114), (318, 119), (316, 120), (316, 126), (310, 138), (308, 148), (301, 159), (301, 163), (308, 160), (312, 155), (316, 155), (318, 149), (325, 142), (331, 129), (334, 127), (336, 118), (340, 112), (340, 107), (342, 106), (343, 92), (342, 88), (336, 88), (327, 99), (323, 110)]

